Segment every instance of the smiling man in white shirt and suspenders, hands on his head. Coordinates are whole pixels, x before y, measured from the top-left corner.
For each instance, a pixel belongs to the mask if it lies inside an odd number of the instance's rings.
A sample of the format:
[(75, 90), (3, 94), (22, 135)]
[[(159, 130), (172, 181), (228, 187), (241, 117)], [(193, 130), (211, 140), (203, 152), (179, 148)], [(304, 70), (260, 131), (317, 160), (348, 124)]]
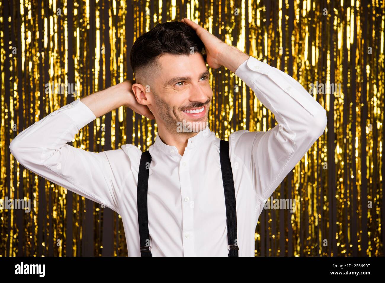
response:
[(206, 126), (199, 132), (179, 127), (183, 121), (201, 124), (208, 119), (213, 91), (203, 47), (209, 67), (234, 72), (278, 122), (268, 132), (242, 130), (229, 136), (237, 223), (232, 246), (239, 256), (254, 256), (255, 226), (264, 202), (321, 136), (326, 111), (289, 75), (187, 18), (158, 24), (136, 40), (130, 54), (134, 84), (122, 82), (77, 99), (10, 144), (12, 154), (32, 172), (119, 213), (129, 256), (141, 255), (137, 186), (142, 152), (125, 144), (95, 153), (66, 142), (121, 105), (156, 119), (157, 138), (146, 168), (152, 256), (228, 256), (220, 140)]

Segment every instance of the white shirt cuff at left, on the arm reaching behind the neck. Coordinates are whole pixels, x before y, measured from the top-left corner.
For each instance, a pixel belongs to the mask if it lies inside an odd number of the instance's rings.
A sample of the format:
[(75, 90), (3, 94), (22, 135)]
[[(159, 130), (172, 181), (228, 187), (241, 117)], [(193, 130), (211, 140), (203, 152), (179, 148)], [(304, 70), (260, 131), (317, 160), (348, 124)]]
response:
[(80, 98), (70, 104), (64, 105), (58, 109), (58, 112), (63, 112), (69, 116), (72, 121), (75, 122), (78, 130), (96, 119), (94, 112), (92, 112), (87, 105), (81, 102)]

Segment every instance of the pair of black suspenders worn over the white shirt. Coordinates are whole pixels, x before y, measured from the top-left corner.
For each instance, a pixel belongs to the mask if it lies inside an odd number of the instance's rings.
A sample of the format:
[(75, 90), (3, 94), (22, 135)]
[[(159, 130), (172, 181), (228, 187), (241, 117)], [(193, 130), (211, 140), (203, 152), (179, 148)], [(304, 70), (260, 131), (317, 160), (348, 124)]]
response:
[[(238, 256), (237, 240), (237, 212), (235, 203), (235, 190), (233, 171), (231, 171), (229, 142), (221, 140), (219, 146), (219, 159), (221, 161), (221, 171), (224, 189), (224, 199), (226, 204), (227, 234), (228, 234), (228, 255)], [(147, 214), (147, 188), (148, 174), (151, 164), (151, 155), (148, 151), (142, 152), (138, 174), (138, 221), (139, 238), (141, 244), (141, 256), (152, 256), (150, 246), (150, 234), (148, 231)]]

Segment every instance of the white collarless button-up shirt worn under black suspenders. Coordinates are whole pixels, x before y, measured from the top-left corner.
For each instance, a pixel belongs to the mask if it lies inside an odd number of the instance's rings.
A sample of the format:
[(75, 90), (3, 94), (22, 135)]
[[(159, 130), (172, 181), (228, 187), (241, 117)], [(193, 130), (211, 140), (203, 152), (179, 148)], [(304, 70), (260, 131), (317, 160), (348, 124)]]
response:
[[(235, 74), (275, 114), (267, 132), (229, 137), (239, 256), (254, 256), (254, 233), (266, 199), (326, 127), (326, 111), (292, 77), (249, 57)], [(141, 151), (89, 152), (66, 144), (96, 119), (79, 99), (31, 125), (10, 144), (18, 162), (121, 215), (129, 256), (140, 256), (137, 178)], [(181, 156), (161, 139), (149, 147), (148, 219), (152, 256), (228, 256), (219, 139), (207, 128)]]

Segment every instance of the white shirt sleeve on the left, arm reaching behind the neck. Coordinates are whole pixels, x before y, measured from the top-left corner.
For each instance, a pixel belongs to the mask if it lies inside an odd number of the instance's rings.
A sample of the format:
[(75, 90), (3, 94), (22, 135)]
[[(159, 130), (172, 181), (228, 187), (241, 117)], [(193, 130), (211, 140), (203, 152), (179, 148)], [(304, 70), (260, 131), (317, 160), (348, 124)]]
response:
[(10, 152), (39, 176), (118, 211), (119, 182), (106, 152), (66, 144), (94, 119), (92, 111), (77, 99), (20, 132), (10, 143)]

